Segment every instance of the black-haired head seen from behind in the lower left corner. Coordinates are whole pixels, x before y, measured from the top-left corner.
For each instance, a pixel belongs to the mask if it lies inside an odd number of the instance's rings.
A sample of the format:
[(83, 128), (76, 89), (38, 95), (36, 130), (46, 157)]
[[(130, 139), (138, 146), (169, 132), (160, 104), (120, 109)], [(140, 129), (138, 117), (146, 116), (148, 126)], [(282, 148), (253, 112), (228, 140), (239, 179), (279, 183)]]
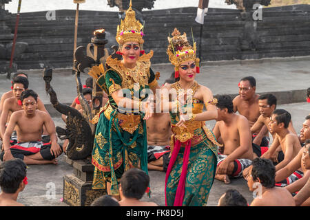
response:
[(25, 188), (27, 170), (21, 159), (10, 159), (0, 164), (0, 187), (2, 192), (14, 194)]

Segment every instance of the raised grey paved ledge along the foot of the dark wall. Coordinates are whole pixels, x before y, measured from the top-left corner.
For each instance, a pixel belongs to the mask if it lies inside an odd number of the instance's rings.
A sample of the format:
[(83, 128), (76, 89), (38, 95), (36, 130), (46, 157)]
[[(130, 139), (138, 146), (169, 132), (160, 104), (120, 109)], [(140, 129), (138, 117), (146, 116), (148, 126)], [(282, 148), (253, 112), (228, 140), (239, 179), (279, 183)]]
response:
[[(310, 86), (310, 56), (301, 58), (263, 59), (259, 61), (218, 61), (202, 63), (198, 83), (209, 87), (216, 94), (238, 94), (238, 83), (245, 76), (256, 78), (256, 91), (291, 91), (307, 89)], [(152, 65), (154, 72), (160, 72), (158, 83), (162, 85), (172, 74), (170, 64)], [(30, 89), (34, 89), (44, 104), (50, 104), (45, 93), (42, 70), (24, 70), (29, 75)], [(87, 74), (81, 73), (85, 83)], [(6, 75), (0, 75), (0, 96), (11, 87)], [(59, 102), (71, 103), (76, 97), (76, 83), (71, 69), (54, 69), (52, 87), (59, 96)]]

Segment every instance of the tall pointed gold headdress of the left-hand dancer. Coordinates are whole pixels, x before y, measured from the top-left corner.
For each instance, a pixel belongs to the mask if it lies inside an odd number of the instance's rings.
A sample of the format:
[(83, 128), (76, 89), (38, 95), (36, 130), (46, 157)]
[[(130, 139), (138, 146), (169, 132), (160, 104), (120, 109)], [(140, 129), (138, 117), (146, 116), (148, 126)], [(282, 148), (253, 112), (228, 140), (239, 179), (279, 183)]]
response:
[(126, 12), (125, 19), (121, 21), (121, 25), (117, 26), (116, 41), (119, 45), (127, 41), (143, 45), (143, 35), (143, 25), (136, 20), (136, 12), (132, 10), (132, 0), (130, 0), (130, 8)]

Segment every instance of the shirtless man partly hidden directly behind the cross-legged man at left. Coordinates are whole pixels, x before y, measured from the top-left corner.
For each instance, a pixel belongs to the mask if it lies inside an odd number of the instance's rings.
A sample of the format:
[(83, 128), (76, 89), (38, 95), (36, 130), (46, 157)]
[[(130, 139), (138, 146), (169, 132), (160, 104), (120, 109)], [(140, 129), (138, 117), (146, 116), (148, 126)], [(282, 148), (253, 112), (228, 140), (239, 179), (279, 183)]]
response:
[[(28, 79), (22, 76), (17, 76), (13, 79), (13, 94), (14, 97), (8, 98), (3, 103), (3, 111), (0, 117), (0, 135), (3, 137), (6, 132), (6, 123), (10, 120), (10, 114), (23, 109), (21, 104), (21, 93), (28, 89)], [(37, 107), (41, 111), (46, 111), (43, 102), (38, 98)]]

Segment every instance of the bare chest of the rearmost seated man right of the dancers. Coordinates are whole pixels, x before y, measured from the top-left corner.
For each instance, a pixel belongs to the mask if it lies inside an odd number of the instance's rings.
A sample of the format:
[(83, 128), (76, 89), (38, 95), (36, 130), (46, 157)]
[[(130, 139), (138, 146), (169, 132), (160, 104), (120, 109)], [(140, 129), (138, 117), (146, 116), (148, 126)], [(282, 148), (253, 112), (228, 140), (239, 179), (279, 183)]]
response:
[(253, 126), (253, 124), (256, 122), (256, 120), (258, 120), (258, 117), (260, 116), (258, 97), (259, 95), (256, 94), (256, 96), (252, 100), (242, 100), (240, 96), (237, 96), (233, 100), (234, 111), (238, 111), (240, 115), (245, 116), (245, 118), (249, 120), (250, 126)]

